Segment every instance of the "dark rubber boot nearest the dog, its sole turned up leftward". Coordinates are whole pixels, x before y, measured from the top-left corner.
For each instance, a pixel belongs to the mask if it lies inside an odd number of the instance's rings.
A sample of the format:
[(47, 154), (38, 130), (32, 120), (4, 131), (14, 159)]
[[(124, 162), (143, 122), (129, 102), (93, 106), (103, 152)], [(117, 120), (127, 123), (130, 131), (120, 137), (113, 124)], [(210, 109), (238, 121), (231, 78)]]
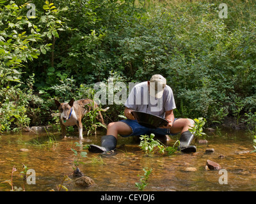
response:
[(102, 153), (109, 152), (116, 148), (116, 138), (113, 135), (104, 135), (101, 138), (101, 146), (98, 145), (90, 145), (89, 152), (93, 153)]

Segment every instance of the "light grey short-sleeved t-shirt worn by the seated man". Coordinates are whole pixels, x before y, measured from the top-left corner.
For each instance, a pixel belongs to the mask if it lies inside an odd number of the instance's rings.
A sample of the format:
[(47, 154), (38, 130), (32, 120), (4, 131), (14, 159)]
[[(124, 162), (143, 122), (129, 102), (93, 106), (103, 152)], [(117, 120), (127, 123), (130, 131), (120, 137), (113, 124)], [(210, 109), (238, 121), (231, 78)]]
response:
[(148, 82), (141, 82), (132, 88), (125, 106), (131, 110), (151, 113), (159, 117), (164, 117), (168, 110), (176, 108), (171, 87), (166, 85), (162, 98), (154, 98), (148, 92)]

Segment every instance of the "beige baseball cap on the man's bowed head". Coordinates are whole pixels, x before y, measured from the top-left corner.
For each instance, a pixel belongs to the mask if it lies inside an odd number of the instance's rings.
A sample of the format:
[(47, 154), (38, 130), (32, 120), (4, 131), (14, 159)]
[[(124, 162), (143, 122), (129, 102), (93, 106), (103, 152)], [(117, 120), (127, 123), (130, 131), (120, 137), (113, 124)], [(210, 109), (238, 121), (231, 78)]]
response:
[(162, 75), (153, 75), (150, 78), (149, 94), (155, 98), (163, 96), (164, 87), (166, 86), (166, 79)]

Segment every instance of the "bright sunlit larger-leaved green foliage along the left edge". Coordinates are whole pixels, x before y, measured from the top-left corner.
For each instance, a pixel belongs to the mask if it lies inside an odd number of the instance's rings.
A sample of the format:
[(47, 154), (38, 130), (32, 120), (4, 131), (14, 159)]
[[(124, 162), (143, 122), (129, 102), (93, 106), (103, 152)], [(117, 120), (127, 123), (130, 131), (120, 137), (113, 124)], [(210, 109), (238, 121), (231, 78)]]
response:
[(62, 22), (54, 17), (58, 10), (44, 7), (45, 13), (40, 18), (29, 19), (26, 16), (27, 5), (18, 6), (10, 1), (0, 6), (0, 123), (1, 130), (6, 131), (29, 126), (31, 119), (28, 115), (36, 112), (31, 106), (28, 110), (29, 102), (40, 99), (32, 91), (35, 75), (28, 80), (29, 89), (20, 89), (24, 84), (20, 79), (24, 73), (22, 69), (28, 61), (38, 59), (40, 53), (46, 54), (50, 50), (52, 44), (47, 40), (51, 40), (52, 35), (58, 38), (57, 31), (63, 27)]

